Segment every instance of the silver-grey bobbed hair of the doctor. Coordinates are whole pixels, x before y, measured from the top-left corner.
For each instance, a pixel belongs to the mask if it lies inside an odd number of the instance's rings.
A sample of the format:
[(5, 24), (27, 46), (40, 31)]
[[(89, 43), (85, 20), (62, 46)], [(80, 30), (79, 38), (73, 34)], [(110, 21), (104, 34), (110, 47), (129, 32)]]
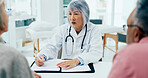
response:
[[(89, 21), (89, 7), (85, 0), (72, 0), (68, 5), (68, 12), (70, 10), (78, 10), (83, 16), (83, 26)], [(68, 22), (70, 24), (69, 18)]]

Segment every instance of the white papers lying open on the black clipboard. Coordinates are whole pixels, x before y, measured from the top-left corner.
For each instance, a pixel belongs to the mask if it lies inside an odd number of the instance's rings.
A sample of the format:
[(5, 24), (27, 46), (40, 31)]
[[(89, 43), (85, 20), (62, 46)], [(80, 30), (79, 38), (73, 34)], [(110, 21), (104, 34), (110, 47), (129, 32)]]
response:
[[(31, 67), (31, 69), (33, 71), (60, 71), (60, 68), (57, 67), (57, 64), (63, 61), (66, 60), (61, 60), (61, 59), (48, 60), (44, 63), (43, 66), (37, 66), (36, 64), (34, 64)], [(91, 69), (89, 68), (88, 65), (84, 65), (84, 66), (76, 66), (69, 70), (65, 70), (65, 68), (62, 68), (60, 72), (83, 72), (83, 71), (91, 71)]]

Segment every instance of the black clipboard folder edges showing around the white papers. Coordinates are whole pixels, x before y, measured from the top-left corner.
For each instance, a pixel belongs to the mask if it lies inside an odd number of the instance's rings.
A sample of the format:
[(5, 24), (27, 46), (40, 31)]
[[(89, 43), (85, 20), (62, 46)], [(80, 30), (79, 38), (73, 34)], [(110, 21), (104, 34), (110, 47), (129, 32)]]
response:
[[(30, 68), (33, 67), (35, 62), (33, 62), (30, 66)], [(45, 71), (38, 71), (38, 70), (34, 70), (37, 73), (95, 73), (95, 69), (93, 66), (93, 63), (89, 63), (88, 67), (90, 68), (90, 70), (88, 71), (62, 71), (62, 68), (59, 68), (59, 70), (45, 70)]]

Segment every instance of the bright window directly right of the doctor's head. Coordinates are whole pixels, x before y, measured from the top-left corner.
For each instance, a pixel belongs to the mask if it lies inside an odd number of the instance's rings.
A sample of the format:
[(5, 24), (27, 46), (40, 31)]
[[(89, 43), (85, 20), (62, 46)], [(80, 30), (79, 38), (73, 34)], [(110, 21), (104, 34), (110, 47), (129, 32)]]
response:
[(90, 19), (101, 19), (102, 24), (110, 24), (112, 0), (86, 0), (90, 8)]

